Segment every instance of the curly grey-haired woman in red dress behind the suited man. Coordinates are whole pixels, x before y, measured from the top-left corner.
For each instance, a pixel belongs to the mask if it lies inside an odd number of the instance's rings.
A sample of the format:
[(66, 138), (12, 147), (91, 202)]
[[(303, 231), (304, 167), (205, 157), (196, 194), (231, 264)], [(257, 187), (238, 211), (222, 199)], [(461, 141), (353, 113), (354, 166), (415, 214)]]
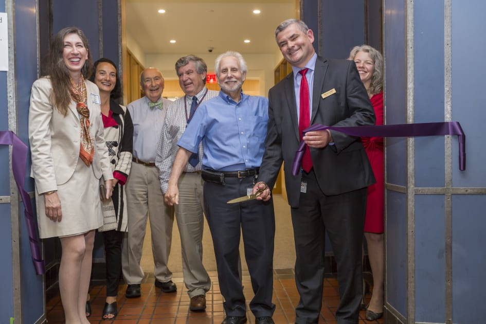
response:
[[(356, 67), (373, 104), (376, 125), (383, 125), (383, 57), (369, 45), (356, 46), (351, 50), (349, 60)], [(363, 145), (373, 169), (376, 183), (368, 187), (366, 206), (365, 238), (368, 257), (373, 274), (373, 293), (366, 310), (367, 320), (383, 316), (384, 299), (384, 158), (382, 137), (362, 137)]]

